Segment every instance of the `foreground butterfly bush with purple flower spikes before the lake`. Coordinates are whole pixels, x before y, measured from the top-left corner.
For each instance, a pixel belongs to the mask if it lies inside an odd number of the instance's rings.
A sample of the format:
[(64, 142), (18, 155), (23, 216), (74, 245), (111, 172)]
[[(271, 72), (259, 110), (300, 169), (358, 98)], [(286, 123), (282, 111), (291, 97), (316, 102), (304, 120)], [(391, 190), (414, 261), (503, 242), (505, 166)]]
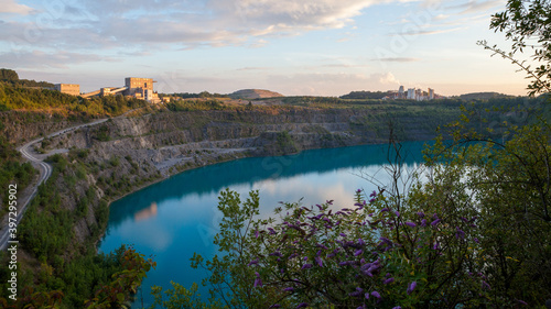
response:
[[(215, 243), (224, 254), (205, 264), (212, 293), (230, 308), (483, 304), (487, 289), (473, 267), (472, 209), (443, 209), (422, 190), (407, 201), (423, 200), (418, 207), (376, 195), (366, 202), (358, 191), (355, 207), (338, 211), (332, 201), (309, 208), (285, 203), (277, 211), (287, 214), (276, 221), (252, 219), (258, 192), (242, 205), (236, 192), (222, 192), (224, 219)], [(193, 265), (203, 265), (203, 258), (194, 256)]]

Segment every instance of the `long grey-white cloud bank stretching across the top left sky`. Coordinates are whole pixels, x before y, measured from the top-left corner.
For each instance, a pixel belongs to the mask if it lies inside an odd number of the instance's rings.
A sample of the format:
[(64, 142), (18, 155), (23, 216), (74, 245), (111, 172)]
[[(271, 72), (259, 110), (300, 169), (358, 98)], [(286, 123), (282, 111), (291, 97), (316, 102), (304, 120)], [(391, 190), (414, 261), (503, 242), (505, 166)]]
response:
[[(0, 34), (0, 40), (15, 36), (19, 43), (29, 42), (34, 48), (64, 49), (122, 48), (129, 44), (147, 49), (160, 43), (174, 49), (253, 48), (264, 46), (269, 37), (343, 27), (374, 3), (377, 1), (84, 0), (56, 8), (55, 13), (37, 8), (36, 18), (2, 25), (4, 35)], [(25, 12), (30, 12), (28, 9)], [(39, 18), (48, 24), (37, 23)], [(30, 32), (35, 36), (32, 40)]]

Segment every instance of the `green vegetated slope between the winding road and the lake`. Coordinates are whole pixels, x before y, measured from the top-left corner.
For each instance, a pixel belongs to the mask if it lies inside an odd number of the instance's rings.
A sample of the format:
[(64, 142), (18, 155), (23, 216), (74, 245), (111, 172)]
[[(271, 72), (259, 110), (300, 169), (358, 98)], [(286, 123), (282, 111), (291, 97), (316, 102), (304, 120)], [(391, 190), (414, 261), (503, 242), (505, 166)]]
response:
[[(97, 188), (87, 184), (89, 165), (78, 161), (86, 157), (85, 151), (73, 151), (68, 158), (52, 157), (52, 176), (39, 187), (18, 227), (19, 250), (26, 254), (19, 255), (21, 293), (17, 302), (6, 301), (10, 271), (0, 267), (2, 308), (23, 308), (30, 304), (36, 308), (46, 304), (53, 304), (52, 308), (82, 308), (85, 301), (89, 308), (119, 308), (128, 305), (130, 295), (154, 266), (131, 247), (96, 253), (96, 241), (106, 229), (109, 209), (106, 200), (98, 199)], [(77, 188), (85, 190), (79, 192)], [(74, 209), (67, 207), (71, 200), (76, 201)], [(77, 241), (75, 234), (75, 227), (83, 220), (90, 231), (84, 242)], [(6, 252), (0, 254), (0, 263), (8, 265), (8, 258)]]

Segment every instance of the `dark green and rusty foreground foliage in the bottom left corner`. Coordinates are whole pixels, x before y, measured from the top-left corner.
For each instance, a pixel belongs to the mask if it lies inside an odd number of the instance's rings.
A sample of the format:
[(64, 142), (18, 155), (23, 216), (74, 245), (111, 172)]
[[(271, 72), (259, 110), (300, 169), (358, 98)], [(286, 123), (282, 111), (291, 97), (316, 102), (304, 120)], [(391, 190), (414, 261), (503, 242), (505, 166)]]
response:
[(83, 308), (83, 304), (85, 308), (128, 308), (130, 293), (136, 293), (145, 273), (154, 266), (154, 262), (125, 245), (110, 254), (90, 251), (67, 263), (60, 278), (29, 285), (17, 301), (0, 298), (0, 305), (13, 309)]

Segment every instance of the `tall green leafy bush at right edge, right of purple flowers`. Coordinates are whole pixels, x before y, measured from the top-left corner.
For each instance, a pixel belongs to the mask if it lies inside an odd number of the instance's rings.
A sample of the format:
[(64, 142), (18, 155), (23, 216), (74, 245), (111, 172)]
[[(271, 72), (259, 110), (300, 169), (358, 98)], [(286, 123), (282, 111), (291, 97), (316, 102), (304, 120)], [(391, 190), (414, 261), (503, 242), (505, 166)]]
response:
[(542, 305), (551, 297), (551, 126), (506, 124), (501, 141), (461, 122), (453, 131), (451, 145), (436, 145), (434, 164), (462, 170), (463, 190), (480, 213), (479, 264), (493, 304)]

